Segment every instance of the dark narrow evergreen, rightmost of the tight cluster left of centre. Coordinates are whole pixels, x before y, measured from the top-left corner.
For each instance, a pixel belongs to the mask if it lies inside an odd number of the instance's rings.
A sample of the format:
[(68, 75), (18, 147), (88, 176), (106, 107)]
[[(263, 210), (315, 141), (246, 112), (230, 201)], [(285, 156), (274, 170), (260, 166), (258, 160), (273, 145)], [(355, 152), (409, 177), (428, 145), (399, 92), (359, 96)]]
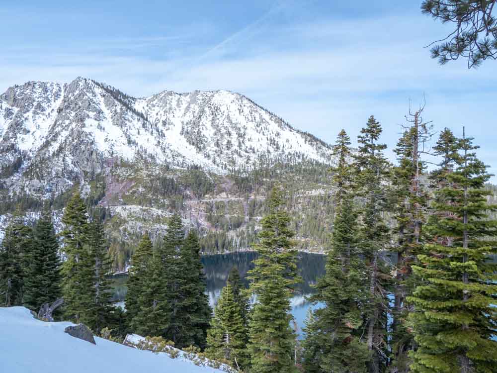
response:
[(183, 333), (182, 346), (205, 349), (207, 329), (212, 309), (205, 294), (205, 275), (200, 260), (200, 244), (197, 233), (190, 230), (180, 249), (180, 271), (184, 271), (184, 283), (180, 288), (180, 309)]

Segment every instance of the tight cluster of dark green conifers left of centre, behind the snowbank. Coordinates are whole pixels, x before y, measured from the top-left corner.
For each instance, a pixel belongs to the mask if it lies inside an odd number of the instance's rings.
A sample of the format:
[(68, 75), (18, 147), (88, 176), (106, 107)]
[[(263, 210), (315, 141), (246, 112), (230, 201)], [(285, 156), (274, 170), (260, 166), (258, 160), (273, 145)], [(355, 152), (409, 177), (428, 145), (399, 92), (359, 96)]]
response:
[(204, 349), (211, 309), (204, 294), (196, 233), (190, 231), (185, 238), (181, 218), (175, 213), (152, 258), (150, 252), (146, 237), (133, 257), (141, 264), (133, 264), (131, 293), (126, 298), (132, 307), (131, 328), (138, 334), (162, 336), (178, 348), (193, 345)]

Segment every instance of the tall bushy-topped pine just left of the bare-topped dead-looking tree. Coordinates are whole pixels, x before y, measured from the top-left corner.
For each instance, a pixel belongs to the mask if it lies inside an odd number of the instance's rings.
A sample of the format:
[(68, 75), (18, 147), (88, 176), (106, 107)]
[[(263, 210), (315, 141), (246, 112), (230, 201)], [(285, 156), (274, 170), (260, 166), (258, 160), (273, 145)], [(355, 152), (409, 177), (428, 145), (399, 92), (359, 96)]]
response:
[(371, 353), (368, 371), (378, 373), (386, 361), (387, 299), (383, 279), (387, 278), (379, 253), (387, 248), (389, 229), (382, 213), (387, 205), (386, 184), (390, 165), (383, 151), (385, 144), (378, 144), (382, 132), (378, 121), (370, 116), (365, 128), (357, 137), (359, 149), (354, 155), (354, 180), (358, 195), (362, 197), (361, 229), (359, 248), (364, 255), (369, 282), (367, 311), (367, 345)]

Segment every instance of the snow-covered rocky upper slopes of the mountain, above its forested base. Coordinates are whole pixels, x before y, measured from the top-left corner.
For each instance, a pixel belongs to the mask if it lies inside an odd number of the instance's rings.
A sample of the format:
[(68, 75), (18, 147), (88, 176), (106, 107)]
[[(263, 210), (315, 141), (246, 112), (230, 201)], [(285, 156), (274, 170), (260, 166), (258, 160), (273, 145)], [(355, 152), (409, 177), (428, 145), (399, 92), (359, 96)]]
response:
[(135, 98), (90, 79), (28, 82), (0, 95), (0, 188), (57, 195), (115, 162), (218, 175), (261, 162), (331, 161), (330, 147), (229, 91)]

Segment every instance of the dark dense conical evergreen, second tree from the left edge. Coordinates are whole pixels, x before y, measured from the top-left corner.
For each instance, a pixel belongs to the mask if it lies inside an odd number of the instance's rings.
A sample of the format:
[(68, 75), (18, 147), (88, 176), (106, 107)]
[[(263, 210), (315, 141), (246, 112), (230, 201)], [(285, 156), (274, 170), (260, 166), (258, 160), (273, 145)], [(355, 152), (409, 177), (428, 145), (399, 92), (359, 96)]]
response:
[(61, 297), (59, 242), (52, 223), (52, 211), (45, 202), (34, 229), (33, 250), (25, 270), (24, 305), (38, 311)]

